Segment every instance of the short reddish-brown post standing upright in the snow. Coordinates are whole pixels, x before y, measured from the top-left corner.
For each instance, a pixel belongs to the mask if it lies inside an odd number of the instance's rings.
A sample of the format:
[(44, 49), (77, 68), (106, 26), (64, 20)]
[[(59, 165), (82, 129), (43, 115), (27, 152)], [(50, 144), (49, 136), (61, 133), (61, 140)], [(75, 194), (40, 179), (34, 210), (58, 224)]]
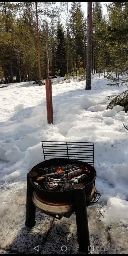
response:
[(48, 124), (53, 124), (53, 108), (52, 108), (52, 80), (45, 80), (46, 89), (46, 105), (47, 105), (47, 120)]

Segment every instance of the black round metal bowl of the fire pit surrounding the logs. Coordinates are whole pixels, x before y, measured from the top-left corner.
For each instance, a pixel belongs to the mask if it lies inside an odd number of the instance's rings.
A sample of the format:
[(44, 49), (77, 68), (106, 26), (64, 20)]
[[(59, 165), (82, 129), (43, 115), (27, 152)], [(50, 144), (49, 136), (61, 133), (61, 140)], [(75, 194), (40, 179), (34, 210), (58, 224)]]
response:
[[(86, 164), (86, 167), (90, 170), (90, 173), (88, 173), (89, 177), (91, 178), (91, 182), (89, 184), (84, 184), (85, 191), (86, 191), (86, 199), (90, 197), (94, 181), (97, 177), (97, 172), (94, 169), (93, 166), (91, 166), (89, 163), (79, 161), (77, 159), (65, 159), (65, 158), (54, 158), (49, 159), (44, 162), (38, 163), (35, 165), (31, 171), (30, 171), (30, 182), (33, 186), (33, 190), (35, 191), (37, 197), (41, 199), (43, 202), (47, 203), (71, 203), (74, 197), (74, 189), (68, 190), (68, 191), (45, 191), (43, 189), (40, 189), (34, 185), (34, 181), (36, 181), (39, 174), (41, 174), (40, 168), (44, 167), (51, 167), (51, 166), (58, 166), (58, 165), (75, 165), (75, 164)], [(33, 175), (34, 174), (34, 175)], [(33, 177), (32, 177), (33, 176)]]

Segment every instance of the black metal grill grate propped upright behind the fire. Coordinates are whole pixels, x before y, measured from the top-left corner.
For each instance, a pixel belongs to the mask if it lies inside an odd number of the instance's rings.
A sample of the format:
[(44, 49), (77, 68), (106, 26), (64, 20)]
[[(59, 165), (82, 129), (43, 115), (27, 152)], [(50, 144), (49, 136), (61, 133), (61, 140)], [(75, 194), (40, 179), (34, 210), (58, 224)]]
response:
[(53, 142), (42, 141), (44, 159), (76, 158), (85, 161), (94, 167), (93, 142)]

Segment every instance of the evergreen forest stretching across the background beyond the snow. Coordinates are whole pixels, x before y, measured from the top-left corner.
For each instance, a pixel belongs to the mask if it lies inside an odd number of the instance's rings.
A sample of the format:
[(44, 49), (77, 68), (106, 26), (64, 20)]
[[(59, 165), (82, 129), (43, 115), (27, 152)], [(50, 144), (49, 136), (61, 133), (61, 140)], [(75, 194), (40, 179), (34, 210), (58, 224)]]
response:
[[(128, 2), (93, 2), (92, 74), (128, 70)], [(80, 2), (0, 2), (0, 83), (85, 80), (87, 17)], [(39, 71), (40, 69), (40, 71)], [(40, 73), (39, 73), (40, 72)]]

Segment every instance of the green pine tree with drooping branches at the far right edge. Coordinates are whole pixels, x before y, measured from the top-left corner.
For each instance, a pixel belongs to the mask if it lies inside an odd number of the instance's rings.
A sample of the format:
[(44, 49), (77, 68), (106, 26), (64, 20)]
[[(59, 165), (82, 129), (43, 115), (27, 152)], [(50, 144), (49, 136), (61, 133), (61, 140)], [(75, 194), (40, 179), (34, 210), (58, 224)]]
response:
[[(128, 82), (128, 3), (112, 2), (107, 7), (109, 15), (108, 48), (110, 65), (108, 71), (116, 73), (116, 77), (107, 75), (112, 81), (110, 85), (123, 85)], [(119, 80), (119, 75), (123, 78)]]

